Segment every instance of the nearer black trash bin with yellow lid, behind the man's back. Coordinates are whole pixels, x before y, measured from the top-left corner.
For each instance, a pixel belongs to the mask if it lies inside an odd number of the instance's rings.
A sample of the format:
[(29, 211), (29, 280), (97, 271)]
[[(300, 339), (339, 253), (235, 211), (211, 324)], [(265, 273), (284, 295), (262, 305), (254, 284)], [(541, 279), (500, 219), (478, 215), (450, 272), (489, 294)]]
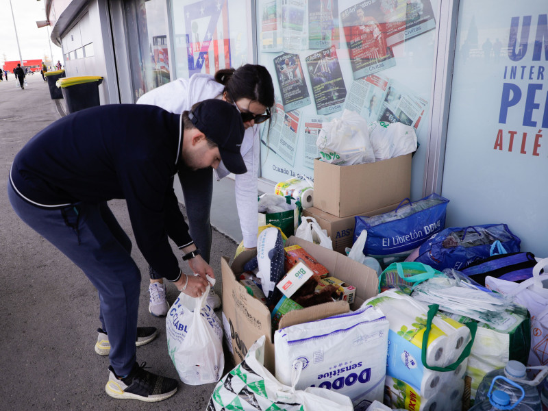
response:
[(99, 84), (102, 82), (103, 77), (91, 75), (58, 79), (57, 86), (62, 90), (66, 110), (73, 113), (100, 105)]

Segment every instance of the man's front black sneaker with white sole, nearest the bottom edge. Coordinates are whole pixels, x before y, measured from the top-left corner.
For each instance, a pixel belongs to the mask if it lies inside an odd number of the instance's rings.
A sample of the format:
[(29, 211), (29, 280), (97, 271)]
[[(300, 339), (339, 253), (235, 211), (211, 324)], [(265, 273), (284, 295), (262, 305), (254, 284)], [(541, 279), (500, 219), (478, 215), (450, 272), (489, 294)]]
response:
[(132, 372), (125, 378), (119, 378), (112, 366), (105, 391), (110, 397), (117, 399), (138, 399), (140, 401), (157, 402), (171, 397), (177, 392), (179, 383), (176, 379), (162, 377), (145, 371), (143, 362), (135, 363)]

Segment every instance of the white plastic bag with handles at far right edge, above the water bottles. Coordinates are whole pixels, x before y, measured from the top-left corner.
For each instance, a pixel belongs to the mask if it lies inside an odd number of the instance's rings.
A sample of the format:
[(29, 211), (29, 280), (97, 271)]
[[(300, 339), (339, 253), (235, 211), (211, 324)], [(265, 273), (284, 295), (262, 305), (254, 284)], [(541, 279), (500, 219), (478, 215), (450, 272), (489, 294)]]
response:
[[(545, 274), (540, 275), (544, 269)], [(516, 303), (525, 306), (531, 313), (531, 351), (528, 366), (548, 365), (546, 346), (548, 340), (548, 258), (540, 260), (533, 267), (533, 277), (517, 284), (491, 277), (485, 277), (485, 285), (503, 295), (513, 295)]]

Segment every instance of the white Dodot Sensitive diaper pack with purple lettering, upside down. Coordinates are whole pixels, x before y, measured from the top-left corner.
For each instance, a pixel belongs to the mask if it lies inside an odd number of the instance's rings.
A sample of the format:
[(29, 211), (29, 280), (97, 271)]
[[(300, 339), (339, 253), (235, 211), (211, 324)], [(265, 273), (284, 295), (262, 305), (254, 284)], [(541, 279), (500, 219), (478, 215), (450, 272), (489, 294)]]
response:
[(388, 350), (388, 320), (372, 306), (279, 329), (274, 334), (276, 378), (291, 381), (293, 363), (303, 362), (297, 389), (327, 388), (354, 406), (382, 401)]

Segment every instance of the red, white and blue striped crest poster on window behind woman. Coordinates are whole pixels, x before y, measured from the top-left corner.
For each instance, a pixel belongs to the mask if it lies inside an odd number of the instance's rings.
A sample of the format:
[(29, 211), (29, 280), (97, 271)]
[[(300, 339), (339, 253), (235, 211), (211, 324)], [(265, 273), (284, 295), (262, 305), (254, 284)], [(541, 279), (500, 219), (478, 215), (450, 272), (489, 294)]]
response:
[(188, 75), (231, 67), (227, 0), (184, 6)]

